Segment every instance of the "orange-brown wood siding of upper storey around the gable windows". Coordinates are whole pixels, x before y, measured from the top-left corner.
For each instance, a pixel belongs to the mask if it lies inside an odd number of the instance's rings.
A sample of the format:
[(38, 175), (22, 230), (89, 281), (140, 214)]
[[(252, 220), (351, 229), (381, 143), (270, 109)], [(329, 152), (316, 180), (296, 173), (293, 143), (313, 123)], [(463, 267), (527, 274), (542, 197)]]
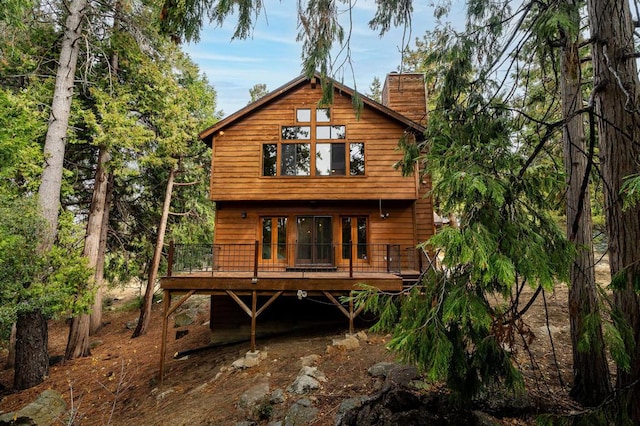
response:
[(364, 143), (365, 175), (262, 176), (262, 145), (278, 143), (281, 126), (297, 124), (296, 109), (313, 110), (320, 96), (320, 85), (300, 85), (216, 132), (212, 143), (211, 199), (415, 200), (415, 179), (403, 177), (393, 168), (402, 158), (397, 142), (406, 125), (368, 106), (358, 120), (350, 96), (338, 92), (331, 107), (331, 124), (345, 125), (346, 139), (332, 142)]

